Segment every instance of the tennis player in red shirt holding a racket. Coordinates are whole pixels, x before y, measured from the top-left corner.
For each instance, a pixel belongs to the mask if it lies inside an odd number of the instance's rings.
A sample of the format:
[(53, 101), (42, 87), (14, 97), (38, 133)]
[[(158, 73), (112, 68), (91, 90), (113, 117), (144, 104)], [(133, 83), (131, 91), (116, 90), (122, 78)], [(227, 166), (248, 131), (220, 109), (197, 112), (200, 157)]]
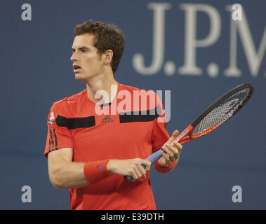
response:
[[(74, 29), (70, 59), (75, 78), (86, 88), (53, 103), (44, 151), (51, 183), (69, 189), (70, 209), (156, 209), (151, 163), (145, 158), (163, 148), (154, 165), (167, 173), (180, 156), (182, 145), (169, 145), (178, 131), (170, 137), (166, 123), (158, 122), (164, 120), (159, 97), (142, 114), (133, 99), (140, 89), (115, 80), (124, 45), (124, 35), (114, 25), (89, 20)], [(96, 108), (108, 113), (96, 113)]]

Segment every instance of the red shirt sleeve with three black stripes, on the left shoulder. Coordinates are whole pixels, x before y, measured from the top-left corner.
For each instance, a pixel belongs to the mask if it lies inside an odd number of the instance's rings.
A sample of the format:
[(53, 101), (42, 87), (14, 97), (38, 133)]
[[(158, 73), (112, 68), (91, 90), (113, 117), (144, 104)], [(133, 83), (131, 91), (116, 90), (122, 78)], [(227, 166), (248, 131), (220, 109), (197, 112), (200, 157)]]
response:
[[(44, 156), (47, 158), (48, 153), (60, 148), (74, 148), (71, 132), (62, 125), (58, 126), (56, 120), (58, 118), (64, 118), (62, 115), (62, 109), (58, 104), (53, 104), (47, 119), (47, 137), (46, 146), (44, 149)], [(65, 118), (67, 120), (67, 118)], [(67, 125), (66, 125), (67, 126)]]

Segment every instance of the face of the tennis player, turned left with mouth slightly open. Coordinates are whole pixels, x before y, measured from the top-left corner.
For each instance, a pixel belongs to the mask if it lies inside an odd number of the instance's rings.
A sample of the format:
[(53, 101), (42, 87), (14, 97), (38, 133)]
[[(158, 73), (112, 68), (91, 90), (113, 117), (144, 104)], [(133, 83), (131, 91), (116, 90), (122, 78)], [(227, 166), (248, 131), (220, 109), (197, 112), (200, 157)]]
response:
[(86, 81), (102, 72), (103, 59), (93, 45), (93, 38), (93, 34), (81, 34), (74, 38), (70, 59), (77, 80)]

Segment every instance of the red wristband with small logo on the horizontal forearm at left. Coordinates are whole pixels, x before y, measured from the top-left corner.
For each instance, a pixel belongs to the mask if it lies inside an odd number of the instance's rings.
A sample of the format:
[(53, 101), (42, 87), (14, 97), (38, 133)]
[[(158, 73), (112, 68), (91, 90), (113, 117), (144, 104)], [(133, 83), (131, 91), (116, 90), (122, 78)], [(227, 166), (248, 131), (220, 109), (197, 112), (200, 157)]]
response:
[(101, 179), (104, 179), (107, 176), (110, 176), (110, 174), (107, 171), (107, 162), (109, 160), (101, 160), (101, 161), (95, 161), (95, 162), (87, 162), (84, 166), (84, 176), (88, 183), (92, 184), (97, 181), (100, 181)]

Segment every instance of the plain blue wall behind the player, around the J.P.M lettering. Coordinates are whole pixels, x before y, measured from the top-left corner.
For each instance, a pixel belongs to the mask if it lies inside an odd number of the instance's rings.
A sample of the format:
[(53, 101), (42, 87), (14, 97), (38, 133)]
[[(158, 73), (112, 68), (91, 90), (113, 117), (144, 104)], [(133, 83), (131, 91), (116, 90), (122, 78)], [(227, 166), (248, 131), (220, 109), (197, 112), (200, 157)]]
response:
[[(234, 1), (173, 1), (165, 10), (164, 60), (158, 71), (145, 76), (133, 66), (133, 56), (152, 63), (153, 15), (150, 2), (162, 1), (7, 1), (0, 3), (0, 209), (69, 209), (67, 190), (55, 190), (44, 158), (46, 119), (53, 102), (84, 89), (74, 79), (71, 46), (73, 30), (88, 19), (114, 23), (126, 36), (124, 57), (116, 73), (120, 83), (147, 90), (171, 90), (168, 132), (182, 131), (221, 94), (241, 83), (252, 83), (251, 101), (230, 122), (208, 137), (184, 145), (178, 167), (169, 174), (152, 169), (157, 209), (265, 209), (265, 1), (238, 1), (245, 10), (248, 29), (237, 31), (239, 77), (228, 77), (230, 66), (230, 12)], [(23, 3), (32, 6), (32, 20), (23, 21)], [(220, 35), (211, 45), (197, 48), (195, 59), (202, 73), (185, 75), (185, 20), (182, 4), (206, 4), (220, 16)], [(197, 6), (198, 7), (198, 6)], [(217, 14), (218, 13), (218, 14)], [(210, 18), (197, 13), (197, 39), (210, 31)], [(242, 40), (251, 34), (260, 48), (258, 71), (252, 74)], [(262, 38), (264, 34), (264, 38)], [(253, 57), (254, 59), (254, 57)], [(175, 72), (164, 71), (166, 62)], [(214, 62), (218, 73), (211, 76)], [(32, 202), (22, 203), (22, 186), (32, 188)], [(241, 186), (242, 202), (232, 202), (233, 186)]]

